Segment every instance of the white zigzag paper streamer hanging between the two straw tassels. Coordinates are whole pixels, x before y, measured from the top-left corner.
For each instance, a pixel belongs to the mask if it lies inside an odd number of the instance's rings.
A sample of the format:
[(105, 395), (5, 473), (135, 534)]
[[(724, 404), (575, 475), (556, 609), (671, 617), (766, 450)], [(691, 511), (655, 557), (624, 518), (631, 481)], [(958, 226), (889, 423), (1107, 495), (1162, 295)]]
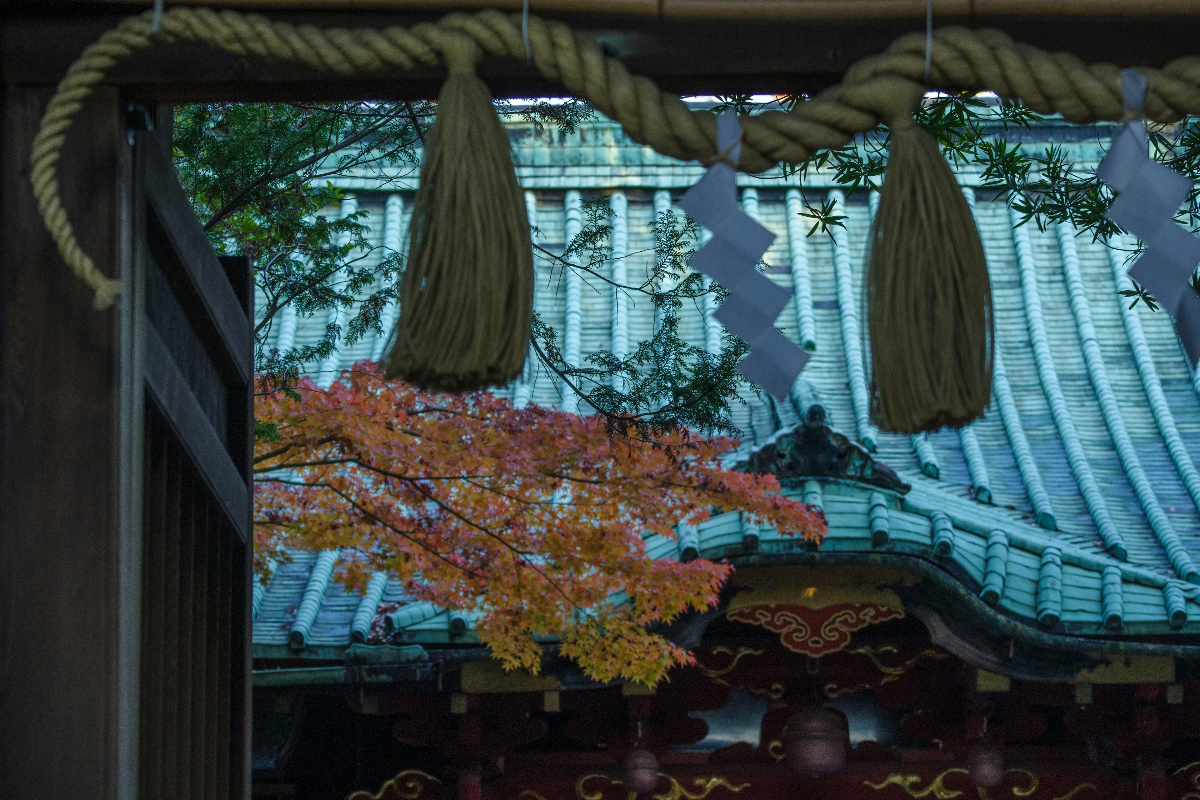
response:
[(691, 257), (690, 265), (728, 290), (713, 317), (750, 345), (750, 354), (738, 363), (738, 372), (784, 399), (809, 354), (775, 330), (775, 318), (792, 293), (756, 269), (762, 254), (775, 241), (775, 234), (746, 216), (738, 205), (737, 174), (732, 164), (738, 163), (742, 155), (742, 124), (736, 113), (726, 112), (716, 118), (716, 148), (724, 158), (709, 167), (679, 200), (679, 206), (713, 234)]

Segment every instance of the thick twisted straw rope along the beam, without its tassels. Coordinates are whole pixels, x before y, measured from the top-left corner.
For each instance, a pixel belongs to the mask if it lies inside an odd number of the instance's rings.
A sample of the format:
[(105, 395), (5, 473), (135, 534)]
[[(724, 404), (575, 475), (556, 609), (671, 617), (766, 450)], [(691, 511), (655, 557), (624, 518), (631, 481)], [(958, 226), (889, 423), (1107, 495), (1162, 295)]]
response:
[[(527, 58), (521, 16), (498, 11), (455, 13), (437, 23), (384, 30), (295, 28), (236, 11), (176, 7), (163, 14), (162, 29), (154, 34), (151, 19), (149, 11), (130, 17), (83, 52), (59, 84), (34, 139), (31, 181), (38, 209), (64, 260), (95, 290), (97, 308), (112, 305), (120, 283), (101, 273), (79, 248), (62, 209), (54, 166), (72, 116), (104, 73), (134, 50), (155, 43), (202, 42), (238, 55), (302, 61), (318, 70), (349, 74), (437, 65), (457, 32), (472, 38), (488, 56)], [(618, 121), (635, 142), (706, 166), (716, 160), (716, 125), (710, 112), (691, 110), (650, 79), (631, 76), (620, 61), (605, 56), (599, 44), (574, 34), (565, 24), (530, 16), (528, 36), (533, 64), (546, 78)], [(1140, 71), (1150, 82), (1147, 118), (1170, 122), (1200, 113), (1200, 58)], [(779, 162), (800, 163), (818, 150), (845, 145), (882, 120), (905, 118), (920, 102), (924, 76), (925, 34), (901, 36), (887, 52), (852, 66), (840, 85), (797, 104), (792, 112), (744, 118), (738, 167), (757, 173)], [(929, 77), (938, 86), (994, 91), (1040, 114), (1057, 112), (1072, 122), (1122, 116), (1118, 67), (1085, 65), (1069, 54), (1018, 44), (996, 30), (937, 30)]]

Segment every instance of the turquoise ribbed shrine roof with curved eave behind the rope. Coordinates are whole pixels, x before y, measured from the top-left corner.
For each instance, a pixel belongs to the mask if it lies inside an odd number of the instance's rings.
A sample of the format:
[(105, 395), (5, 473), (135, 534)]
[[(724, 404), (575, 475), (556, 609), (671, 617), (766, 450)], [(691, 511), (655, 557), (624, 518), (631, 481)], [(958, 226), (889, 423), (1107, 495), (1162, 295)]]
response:
[[(581, 199), (607, 196), (625, 236), (611, 264), (623, 260), (631, 283), (644, 276), (654, 215), (678, 212), (702, 169), (641, 148), (606, 121), (572, 136), (509, 127), (538, 243), (560, 252), (578, 229)], [(1034, 151), (1039, 139), (1062, 144), (1086, 170), (1105, 136), (1106, 128), (1046, 122), (1022, 138)], [(335, 184), (368, 212), (373, 242), (403, 248), (398, 234), (415, 181), (415, 174), (352, 174)], [(788, 401), (743, 392), (733, 422), (744, 435), (732, 462), (775, 471), (787, 493), (824, 509), (829, 536), (817, 557), (917, 559), (982, 597), (980, 613), (1050, 633), (1200, 631), (1200, 473), (1192, 457), (1200, 450), (1200, 384), (1171, 319), (1141, 303), (1130, 309), (1117, 294), (1129, 287), (1124, 252), (1068, 225), (1014, 227), (1019, 218), (995, 191), (979, 187), (978, 173), (960, 169), (959, 181), (991, 276), (992, 399), (984, 417), (961, 431), (908, 437), (880, 432), (869, 419), (862, 281), (877, 198), (847, 197), (821, 172), (803, 185), (778, 172), (738, 176), (743, 209), (776, 234), (767, 275), (796, 291), (776, 325), (812, 357)], [(803, 201), (827, 199), (846, 215), (845, 229), (808, 236)], [(607, 284), (584, 282), (582, 313), (568, 318), (565, 283), (560, 270), (538, 264), (538, 312), (564, 339), (576, 336), (581, 355), (611, 348), (614, 336), (649, 337), (649, 299), (630, 296), (622, 318)], [(700, 347), (719, 342), (710, 311), (680, 313), (683, 336)], [(298, 318), (293, 327), (275, 325), (272, 337), (281, 345), (288, 343), (281, 335), (316, 341), (326, 321)], [(378, 357), (384, 344), (371, 337), (310, 371), (329, 380), (359, 359)], [(518, 403), (572, 403), (545, 372), (496, 391)], [(652, 536), (650, 554), (762, 564), (806, 553), (803, 542), (743, 524), (738, 515), (680, 533), (678, 542)], [(392, 603), (388, 608), (401, 613), (396, 642), (478, 640), (469, 618), (420, 606), (395, 581), (366, 601), (347, 594), (328, 569), (314, 569), (322, 560), (332, 565), (335, 554), (296, 554), (256, 594), (257, 655), (288, 651), (306, 595), (317, 612), (302, 639), (310, 656), (340, 655), (350, 644), (355, 615), (377, 616), (362, 602)]]

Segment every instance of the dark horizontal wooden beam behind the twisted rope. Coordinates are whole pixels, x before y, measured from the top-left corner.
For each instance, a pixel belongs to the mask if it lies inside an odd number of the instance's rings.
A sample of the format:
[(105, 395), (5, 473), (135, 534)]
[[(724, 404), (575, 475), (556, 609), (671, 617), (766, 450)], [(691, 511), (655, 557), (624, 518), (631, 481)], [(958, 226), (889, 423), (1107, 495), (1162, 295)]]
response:
[[(25, 6), (11, 14), (0, 38), (0, 68), (10, 84), (58, 82), (74, 56), (125, 13), (112, 6)], [(68, 11), (70, 10), (70, 11)], [(379, 11), (269, 12), (275, 19), (322, 28), (412, 25), (439, 14)], [(647, 17), (563, 14), (596, 37), (629, 70), (684, 95), (814, 92), (835, 83), (858, 59), (883, 50), (918, 19), (877, 20), (660, 20)], [(1018, 41), (1086, 61), (1162, 65), (1200, 54), (1193, 17), (956, 17), (937, 24), (995, 26)], [(562, 95), (530, 66), (490, 61), (481, 74), (499, 97)], [(439, 70), (395, 70), (335, 76), (292, 62), (270, 62), (202, 46), (156, 47), (131, 56), (110, 77), (146, 102), (289, 100), (415, 100), (436, 97)]]

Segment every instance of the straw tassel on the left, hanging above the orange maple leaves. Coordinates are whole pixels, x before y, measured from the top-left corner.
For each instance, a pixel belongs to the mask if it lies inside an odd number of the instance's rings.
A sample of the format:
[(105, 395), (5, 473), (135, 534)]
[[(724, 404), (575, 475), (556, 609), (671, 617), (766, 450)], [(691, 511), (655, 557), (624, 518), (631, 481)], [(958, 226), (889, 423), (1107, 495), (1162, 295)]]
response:
[(470, 391), (521, 377), (533, 317), (533, 246), (509, 139), (479, 48), (444, 34), (450, 70), (425, 137), (421, 182), (385, 365), (421, 389)]

